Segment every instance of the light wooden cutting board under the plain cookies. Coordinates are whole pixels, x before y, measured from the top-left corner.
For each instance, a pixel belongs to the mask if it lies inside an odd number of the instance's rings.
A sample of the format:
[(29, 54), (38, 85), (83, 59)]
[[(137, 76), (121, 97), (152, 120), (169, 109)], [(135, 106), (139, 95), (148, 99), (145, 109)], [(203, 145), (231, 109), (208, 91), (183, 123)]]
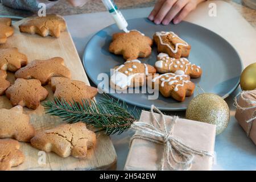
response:
[[(19, 24), (28, 19), (15, 22), (13, 27), (15, 33), (11, 36), (6, 44), (0, 48), (17, 47), (19, 52), (27, 55), (28, 61), (35, 59), (49, 59), (51, 57), (63, 57), (65, 65), (71, 70), (72, 79), (84, 81), (89, 84), (88, 78), (82, 66), (79, 55), (77, 54), (75, 45), (68, 31), (62, 32), (60, 38), (52, 38), (47, 36), (42, 38), (39, 35), (30, 35), (19, 32)], [(12, 84), (14, 82), (13, 73), (8, 73), (7, 80)], [(49, 85), (45, 86), (49, 92), (47, 100), (52, 100), (53, 93)], [(0, 108), (10, 109), (12, 105), (6, 96), (0, 96)], [(36, 131), (50, 129), (61, 123), (58, 117), (52, 117), (44, 113), (43, 106), (39, 106), (36, 110), (24, 107), (24, 113), (30, 115), (30, 122)], [(91, 169), (108, 169), (112, 168), (117, 160), (117, 155), (110, 138), (104, 134), (97, 134), (96, 147), (88, 151), (86, 159), (77, 159), (69, 156), (61, 158), (53, 152), (46, 154), (46, 163), (44, 164), (44, 156), (42, 152), (30, 146), (29, 143), (20, 143), (20, 150), (26, 156), (23, 164), (12, 168), (13, 170), (91, 170)]]

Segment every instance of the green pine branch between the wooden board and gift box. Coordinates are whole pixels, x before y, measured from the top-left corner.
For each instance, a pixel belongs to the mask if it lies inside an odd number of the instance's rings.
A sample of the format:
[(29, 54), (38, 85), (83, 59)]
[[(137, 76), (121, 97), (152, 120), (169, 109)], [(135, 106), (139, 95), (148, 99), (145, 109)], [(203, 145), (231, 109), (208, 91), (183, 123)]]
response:
[[(82, 100), (82, 104), (75, 101), (59, 100), (43, 103), (47, 114), (60, 117), (65, 122), (85, 122), (108, 135), (122, 134), (130, 128), (131, 124), (138, 121), (140, 115), (137, 109), (129, 110), (125, 102), (110, 98), (103, 94), (100, 101)], [(136, 113), (135, 113), (136, 112)]]

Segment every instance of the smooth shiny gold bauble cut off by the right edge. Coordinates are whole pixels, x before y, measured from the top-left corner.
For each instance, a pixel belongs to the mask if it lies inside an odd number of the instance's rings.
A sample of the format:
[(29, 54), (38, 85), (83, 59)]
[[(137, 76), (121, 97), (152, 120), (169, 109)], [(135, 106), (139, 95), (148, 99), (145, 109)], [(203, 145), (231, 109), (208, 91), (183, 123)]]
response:
[(250, 64), (242, 72), (240, 85), (242, 90), (256, 89), (256, 63)]

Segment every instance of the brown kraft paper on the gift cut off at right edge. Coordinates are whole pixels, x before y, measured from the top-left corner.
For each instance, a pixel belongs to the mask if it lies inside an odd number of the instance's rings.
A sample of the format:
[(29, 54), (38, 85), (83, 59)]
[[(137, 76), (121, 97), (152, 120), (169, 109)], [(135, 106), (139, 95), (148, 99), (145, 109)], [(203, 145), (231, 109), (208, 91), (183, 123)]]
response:
[[(256, 94), (256, 90), (251, 90), (251, 92)], [(245, 93), (243, 96), (251, 101), (256, 101), (256, 97), (253, 97), (251, 94)], [(251, 106), (255, 106), (256, 104), (247, 102), (247, 101), (243, 100), (242, 98), (240, 98), (238, 100), (238, 105), (240, 105), (241, 107), (251, 107)], [(250, 123), (247, 123), (246, 121), (253, 118), (255, 111), (256, 111), (255, 108), (248, 109), (248, 110), (242, 110), (242, 109), (237, 108), (237, 110), (236, 110), (235, 117), (236, 117), (238, 123), (240, 123), (240, 125), (242, 126), (243, 130), (245, 130), (245, 132), (247, 132), (248, 127), (250, 125)], [(251, 125), (249, 137), (251, 138), (251, 140), (253, 140), (254, 144), (256, 144), (256, 119), (254, 119), (254, 121)]]

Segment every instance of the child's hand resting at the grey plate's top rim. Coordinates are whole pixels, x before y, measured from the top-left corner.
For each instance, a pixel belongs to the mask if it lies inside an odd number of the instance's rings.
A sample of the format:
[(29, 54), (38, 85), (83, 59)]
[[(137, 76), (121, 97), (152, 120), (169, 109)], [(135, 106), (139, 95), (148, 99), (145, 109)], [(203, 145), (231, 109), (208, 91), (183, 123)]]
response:
[(148, 19), (155, 24), (167, 25), (174, 20), (174, 24), (181, 22), (196, 6), (205, 0), (158, 0)]

